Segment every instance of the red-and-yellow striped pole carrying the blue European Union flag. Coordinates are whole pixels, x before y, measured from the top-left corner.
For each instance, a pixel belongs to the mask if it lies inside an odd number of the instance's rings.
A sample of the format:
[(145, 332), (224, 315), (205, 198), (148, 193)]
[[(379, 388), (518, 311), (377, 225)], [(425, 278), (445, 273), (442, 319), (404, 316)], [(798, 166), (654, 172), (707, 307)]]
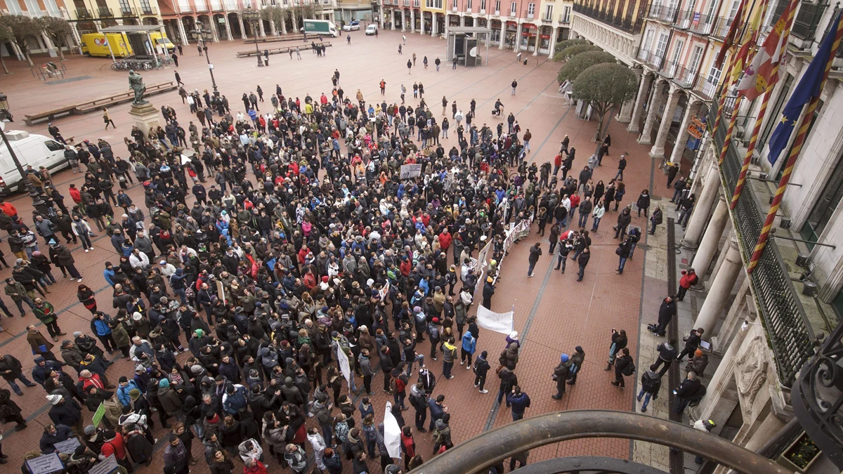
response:
[[(799, 132), (796, 137), (796, 141), (793, 142), (793, 148), (791, 149), (790, 156), (787, 158), (787, 164), (785, 164), (785, 170), (781, 175), (781, 181), (779, 181), (779, 187), (776, 189), (776, 194), (773, 196), (773, 202), (770, 207), (770, 211), (767, 213), (767, 218), (764, 222), (764, 227), (761, 229), (761, 234), (758, 236), (758, 243), (755, 244), (755, 248), (752, 252), (752, 258), (749, 260), (749, 264), (746, 267), (747, 273), (752, 273), (755, 267), (758, 267), (758, 261), (761, 258), (761, 255), (764, 253), (764, 249), (767, 245), (767, 240), (770, 239), (770, 229), (773, 227), (773, 221), (776, 219), (776, 212), (779, 210), (779, 206), (781, 205), (781, 196), (784, 194), (785, 189), (787, 188), (787, 182), (790, 180), (790, 176), (793, 172), (793, 165), (796, 164), (797, 158), (799, 158), (799, 153), (802, 151), (802, 146), (805, 143), (805, 137), (808, 136), (808, 127), (811, 125), (811, 119), (813, 118), (813, 112), (817, 110), (817, 105), (819, 104), (819, 96), (822, 94), (822, 90), (825, 88), (825, 83), (829, 79), (829, 71), (831, 70), (831, 64), (835, 60), (835, 55), (837, 53), (837, 48), (840, 47), (840, 38), (843, 38), (843, 28), (840, 28), (840, 14), (837, 15), (835, 19), (837, 24), (835, 30), (835, 42), (831, 46), (831, 51), (829, 51), (829, 57), (825, 58), (825, 71), (823, 73), (823, 80), (819, 83), (819, 91), (820, 94), (813, 96), (810, 102), (808, 102), (808, 109), (804, 111), (802, 122), (799, 123)], [(816, 61), (817, 58), (814, 58)]]

